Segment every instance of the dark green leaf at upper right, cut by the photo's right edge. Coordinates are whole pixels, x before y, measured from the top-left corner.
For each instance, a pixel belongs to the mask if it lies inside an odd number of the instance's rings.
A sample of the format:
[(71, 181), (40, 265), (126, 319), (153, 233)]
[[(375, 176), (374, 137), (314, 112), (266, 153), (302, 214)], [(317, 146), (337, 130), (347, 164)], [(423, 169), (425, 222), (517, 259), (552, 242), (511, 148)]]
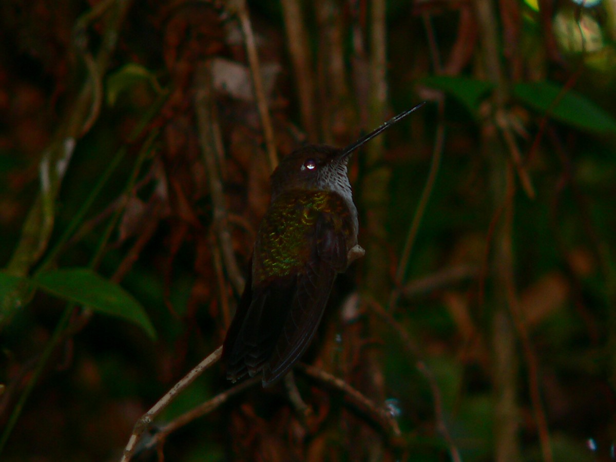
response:
[(576, 91), (563, 92), (551, 82), (533, 82), (517, 84), (513, 94), (529, 107), (582, 131), (616, 134), (616, 119)]

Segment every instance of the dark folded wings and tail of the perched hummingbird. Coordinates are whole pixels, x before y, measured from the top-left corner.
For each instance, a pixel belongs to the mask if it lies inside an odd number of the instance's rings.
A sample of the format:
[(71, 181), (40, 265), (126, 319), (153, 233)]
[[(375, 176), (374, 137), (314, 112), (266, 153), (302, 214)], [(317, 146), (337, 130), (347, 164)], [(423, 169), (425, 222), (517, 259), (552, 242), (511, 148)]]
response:
[(285, 277), (252, 285), (246, 282), (227, 332), (223, 358), (227, 378), (235, 381), (263, 370), (267, 386), (281, 378), (306, 351), (317, 331), (336, 274), (346, 269), (344, 233), (333, 217), (320, 214), (306, 264)]

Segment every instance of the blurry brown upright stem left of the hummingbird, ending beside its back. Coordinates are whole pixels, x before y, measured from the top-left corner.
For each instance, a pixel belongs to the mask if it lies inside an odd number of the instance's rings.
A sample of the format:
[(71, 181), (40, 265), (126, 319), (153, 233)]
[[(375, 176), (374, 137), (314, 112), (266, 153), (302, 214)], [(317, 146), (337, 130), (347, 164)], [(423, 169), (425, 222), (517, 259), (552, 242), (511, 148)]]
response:
[(221, 245), (222, 258), (229, 278), (238, 293), (244, 290), (244, 278), (241, 275), (235, 253), (233, 241), (227, 226), (227, 207), (222, 188), (221, 177), (216, 163), (216, 135), (213, 133), (217, 123), (216, 102), (213, 97), (211, 64), (200, 63), (195, 71), (195, 110), (197, 111), (197, 129), (199, 144), (203, 153), (203, 163), (208, 174), (209, 189), (212, 193), (214, 206), (214, 228)]

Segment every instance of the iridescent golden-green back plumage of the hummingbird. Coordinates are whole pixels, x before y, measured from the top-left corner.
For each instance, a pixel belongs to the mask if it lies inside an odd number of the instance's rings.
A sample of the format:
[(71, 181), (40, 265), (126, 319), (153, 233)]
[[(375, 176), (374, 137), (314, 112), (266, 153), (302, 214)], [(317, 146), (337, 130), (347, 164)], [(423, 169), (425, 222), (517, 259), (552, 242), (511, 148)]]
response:
[(253, 285), (301, 271), (316, 245), (316, 224), (323, 214), (335, 232), (344, 234), (347, 249), (352, 247), (355, 239), (351, 238), (351, 211), (340, 195), (306, 190), (278, 195), (259, 227), (254, 246)]

